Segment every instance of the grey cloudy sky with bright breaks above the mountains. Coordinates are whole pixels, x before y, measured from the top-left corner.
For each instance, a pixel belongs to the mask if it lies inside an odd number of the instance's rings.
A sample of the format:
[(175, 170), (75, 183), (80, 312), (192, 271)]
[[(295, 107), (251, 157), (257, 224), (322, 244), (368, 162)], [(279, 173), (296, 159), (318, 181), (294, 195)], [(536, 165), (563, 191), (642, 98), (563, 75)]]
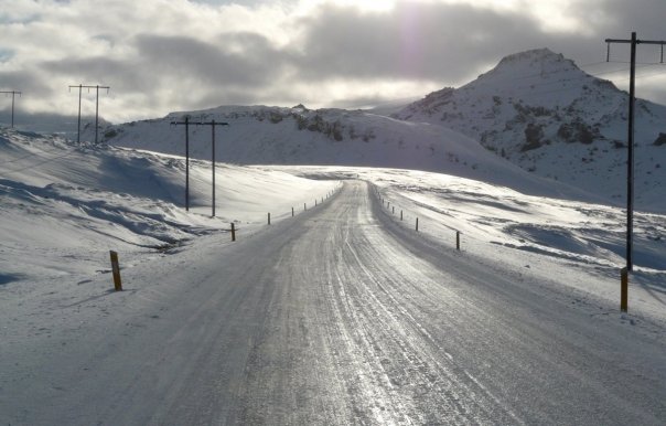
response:
[[(28, 114), (76, 114), (69, 85), (108, 85), (114, 121), (218, 105), (358, 108), (460, 86), (549, 47), (625, 88), (629, 45), (665, 40), (664, 0), (0, 0), (0, 89)], [(666, 104), (659, 46), (637, 95)], [(84, 114), (95, 110), (84, 92)], [(0, 96), (0, 109), (11, 99)]]

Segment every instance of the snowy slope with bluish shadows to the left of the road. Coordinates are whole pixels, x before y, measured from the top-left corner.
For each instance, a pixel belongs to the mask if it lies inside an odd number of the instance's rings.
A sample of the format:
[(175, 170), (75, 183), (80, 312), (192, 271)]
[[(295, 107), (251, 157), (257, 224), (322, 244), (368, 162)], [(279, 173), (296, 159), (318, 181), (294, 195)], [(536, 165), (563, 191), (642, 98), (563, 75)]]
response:
[(95, 275), (109, 249), (151, 257), (230, 222), (247, 234), (336, 185), (218, 164), (213, 219), (210, 163), (191, 163), (187, 213), (184, 162), (0, 128), (0, 285)]

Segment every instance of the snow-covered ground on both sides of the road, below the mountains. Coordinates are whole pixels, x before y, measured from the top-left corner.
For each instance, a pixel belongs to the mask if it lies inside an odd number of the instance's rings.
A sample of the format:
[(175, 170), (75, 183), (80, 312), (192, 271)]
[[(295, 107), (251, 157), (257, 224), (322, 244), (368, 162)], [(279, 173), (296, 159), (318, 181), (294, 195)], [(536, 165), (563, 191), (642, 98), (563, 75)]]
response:
[[(1, 130), (0, 150), (0, 295), (14, 307), (63, 288), (97, 294), (86, 284), (110, 279), (109, 249), (131, 268), (186, 251), (201, 235), (228, 241), (232, 222), (239, 237), (251, 235), (266, 225), (269, 212), (275, 222), (290, 217), (292, 206), (298, 214), (304, 204), (311, 209), (325, 201), (341, 179), (377, 185), (396, 220), (400, 210), (405, 226), (419, 217), (423, 236), (453, 245), (460, 231), (463, 249), (481, 259), (512, 264), (535, 280), (561, 276), (560, 283), (604, 300), (619, 298), (625, 224), (616, 207), (422, 171), (217, 164), (216, 217), (211, 217), (211, 164), (203, 160), (191, 161), (186, 212), (180, 157), (8, 129)], [(534, 192), (535, 185), (529, 188)], [(666, 318), (664, 219), (636, 214), (630, 300), (632, 312), (660, 318)]]

